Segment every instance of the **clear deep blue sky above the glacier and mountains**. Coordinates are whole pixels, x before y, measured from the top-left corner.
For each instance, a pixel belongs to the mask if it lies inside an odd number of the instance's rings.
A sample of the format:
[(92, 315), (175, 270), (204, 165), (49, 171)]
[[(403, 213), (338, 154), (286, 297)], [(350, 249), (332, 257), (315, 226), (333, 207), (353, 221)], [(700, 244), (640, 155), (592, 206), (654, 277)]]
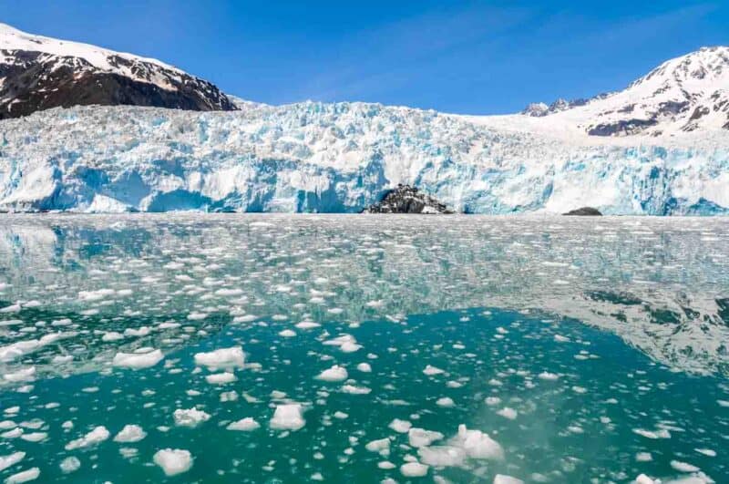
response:
[(489, 114), (729, 45), (729, 2), (0, 0), (27, 32), (156, 57), (241, 98)]

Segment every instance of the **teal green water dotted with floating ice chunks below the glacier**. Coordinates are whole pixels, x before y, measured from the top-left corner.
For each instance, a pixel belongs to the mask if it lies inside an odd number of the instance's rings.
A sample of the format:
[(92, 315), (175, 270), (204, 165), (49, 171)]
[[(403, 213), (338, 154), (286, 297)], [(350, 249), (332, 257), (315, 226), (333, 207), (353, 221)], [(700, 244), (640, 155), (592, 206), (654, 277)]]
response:
[(727, 345), (723, 219), (3, 215), (0, 479), (727, 482)]

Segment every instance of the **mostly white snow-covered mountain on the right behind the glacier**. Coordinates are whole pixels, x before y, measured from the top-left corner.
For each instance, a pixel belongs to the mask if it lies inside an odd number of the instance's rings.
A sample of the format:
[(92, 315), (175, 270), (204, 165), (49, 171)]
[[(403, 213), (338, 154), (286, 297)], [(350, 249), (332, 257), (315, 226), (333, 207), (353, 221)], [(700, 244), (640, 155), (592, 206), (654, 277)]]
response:
[(729, 47), (703, 47), (671, 59), (620, 92), (530, 104), (523, 114), (592, 136), (729, 129)]

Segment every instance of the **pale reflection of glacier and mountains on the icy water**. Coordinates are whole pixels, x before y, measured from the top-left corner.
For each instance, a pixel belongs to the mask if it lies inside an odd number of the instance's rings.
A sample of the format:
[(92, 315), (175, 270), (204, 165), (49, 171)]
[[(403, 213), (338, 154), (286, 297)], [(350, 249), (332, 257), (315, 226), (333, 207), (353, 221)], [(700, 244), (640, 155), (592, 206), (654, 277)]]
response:
[[(609, 330), (667, 365), (726, 374), (728, 257), (723, 219), (5, 216), (0, 301), (76, 312), (73, 332), (129, 324), (108, 314), (141, 325), (206, 314), (205, 325), (231, 311), (358, 322), (531, 307)], [(69, 333), (22, 329), (5, 341)], [(92, 341), (83, 345), (99, 362), (134, 345)]]

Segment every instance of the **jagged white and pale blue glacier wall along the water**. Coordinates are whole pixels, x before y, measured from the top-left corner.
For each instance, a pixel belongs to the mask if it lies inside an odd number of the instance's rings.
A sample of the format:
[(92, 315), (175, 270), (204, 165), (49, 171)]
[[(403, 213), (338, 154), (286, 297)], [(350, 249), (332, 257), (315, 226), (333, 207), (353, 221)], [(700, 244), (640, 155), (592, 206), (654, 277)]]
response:
[(53, 108), (0, 122), (3, 211), (359, 212), (399, 183), (457, 211), (729, 211), (729, 131), (604, 139), (380, 104)]

